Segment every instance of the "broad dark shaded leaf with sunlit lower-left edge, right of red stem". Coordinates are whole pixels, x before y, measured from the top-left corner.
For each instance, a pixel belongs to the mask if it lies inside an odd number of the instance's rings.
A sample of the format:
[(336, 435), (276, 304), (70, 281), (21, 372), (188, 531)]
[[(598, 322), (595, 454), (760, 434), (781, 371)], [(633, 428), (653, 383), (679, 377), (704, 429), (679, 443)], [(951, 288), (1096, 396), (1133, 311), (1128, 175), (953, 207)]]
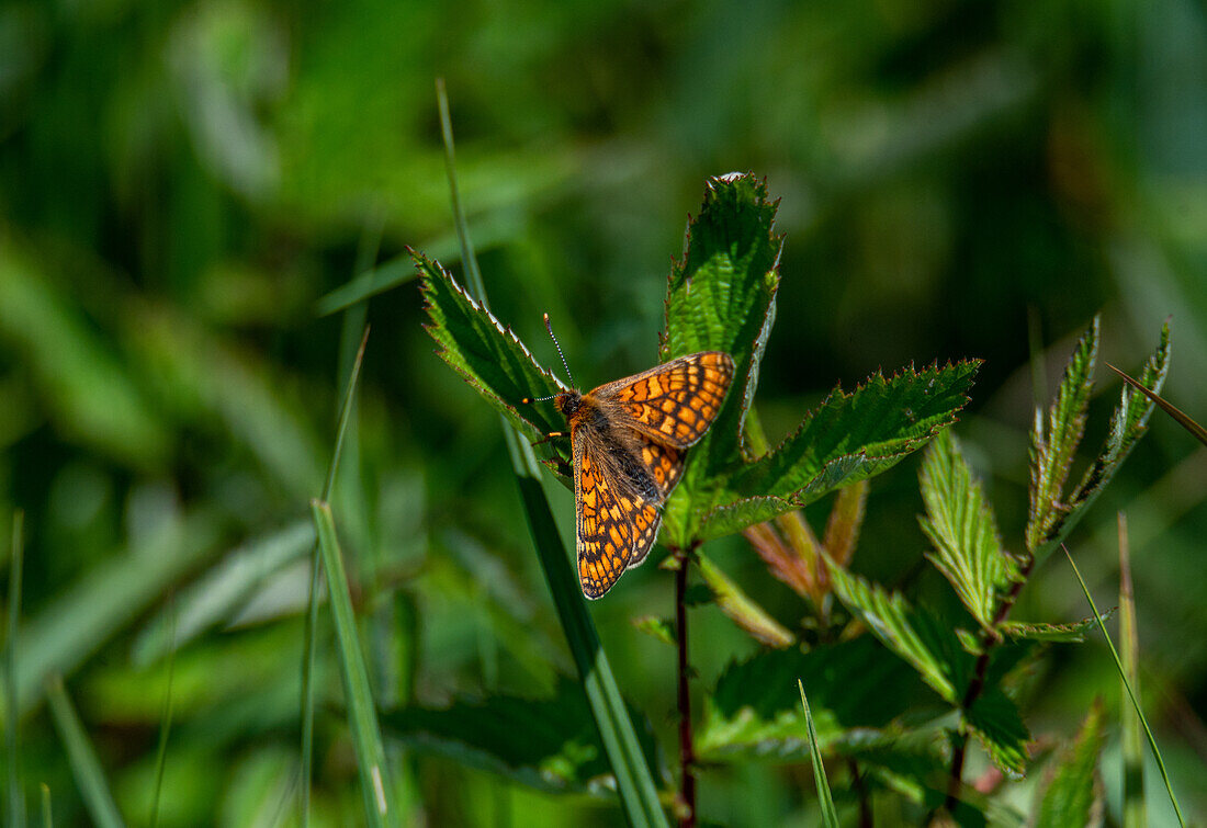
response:
[[(879, 730), (926, 693), (870, 636), (817, 647), (764, 651), (730, 664), (705, 699), (696, 756), (707, 762), (803, 762), (807, 731), (795, 681), (810, 689), (821, 750), (852, 730)], [(885, 693), (885, 687), (897, 688)]]

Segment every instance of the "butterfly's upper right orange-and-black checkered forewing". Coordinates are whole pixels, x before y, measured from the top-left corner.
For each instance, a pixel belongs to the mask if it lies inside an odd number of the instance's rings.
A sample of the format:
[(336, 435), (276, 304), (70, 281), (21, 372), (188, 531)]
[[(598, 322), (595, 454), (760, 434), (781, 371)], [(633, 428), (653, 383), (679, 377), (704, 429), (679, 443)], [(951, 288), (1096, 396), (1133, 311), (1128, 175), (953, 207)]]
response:
[(734, 361), (721, 351), (689, 354), (591, 391), (616, 403), (623, 421), (651, 441), (684, 449), (712, 425), (734, 379)]

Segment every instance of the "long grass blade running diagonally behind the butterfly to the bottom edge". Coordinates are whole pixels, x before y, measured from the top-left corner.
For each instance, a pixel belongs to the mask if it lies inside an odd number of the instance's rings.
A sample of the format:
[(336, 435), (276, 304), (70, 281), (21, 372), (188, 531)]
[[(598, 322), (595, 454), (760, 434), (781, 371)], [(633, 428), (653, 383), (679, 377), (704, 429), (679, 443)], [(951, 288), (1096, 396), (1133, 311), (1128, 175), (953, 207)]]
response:
[[(457, 188), (456, 158), (453, 148), (453, 122), (449, 116), (448, 94), (444, 91), (444, 78), (436, 81), (436, 100), (441, 113), (441, 129), (444, 135), (444, 163), (448, 171), (449, 193), (453, 200), (453, 212), (461, 243), (461, 261), (465, 263), (466, 281), (471, 295), (486, 304), (486, 288), (482, 280), (482, 270), (473, 252), (470, 232), (461, 206), (461, 194)], [(503, 437), (507, 453), (515, 471), (515, 480), (520, 488), (529, 531), (536, 546), (541, 568), (544, 571), (549, 593), (553, 596), (558, 620), (566, 635), (570, 652), (583, 682), (587, 700), (599, 727), (600, 739), (616, 775), (617, 792), (620, 805), (631, 826), (666, 826), (654, 787), (653, 774), (646, 764), (632, 729), (632, 722), (624, 707), (620, 690), (617, 687), (607, 655), (595, 632), (595, 625), (578, 587), (578, 579), (570, 567), (566, 548), (561, 535), (549, 511), (549, 502), (541, 486), (541, 471), (532, 447), (523, 439), (514, 428), (503, 424)]]

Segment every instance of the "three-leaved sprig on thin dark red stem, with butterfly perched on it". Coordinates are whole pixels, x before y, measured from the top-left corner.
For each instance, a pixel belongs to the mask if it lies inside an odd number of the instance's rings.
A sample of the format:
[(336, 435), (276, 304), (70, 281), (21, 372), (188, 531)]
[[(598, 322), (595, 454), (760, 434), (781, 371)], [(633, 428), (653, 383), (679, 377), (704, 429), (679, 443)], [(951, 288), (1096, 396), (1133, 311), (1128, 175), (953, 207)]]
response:
[[(680, 663), (680, 797), (682, 818), (688, 822), (695, 816), (698, 748), (712, 751), (707, 758), (717, 758), (739, 744), (718, 735), (724, 728), (715, 721), (712, 710), (706, 715), (712, 727), (706, 725), (699, 737), (693, 734), (688, 568), (700, 566), (718, 606), (744, 629), (762, 630), (780, 646), (792, 641), (791, 635), (775, 630), (757, 601), (744, 595), (700, 553), (700, 546), (772, 519), (803, 526), (794, 514), (800, 507), (886, 471), (951, 425), (967, 402), (978, 365), (970, 361), (923, 371), (909, 368), (892, 378), (877, 374), (851, 393), (835, 390), (794, 435), (769, 450), (751, 407), (759, 361), (775, 320), (780, 281), (782, 238), (774, 232), (775, 210), (765, 186), (752, 176), (709, 181), (704, 208), (690, 223), (687, 251), (670, 276), (666, 327), (660, 339), (663, 360), (722, 350), (737, 366), (734, 387), (711, 431), (688, 455), (682, 482), (665, 508), (661, 535), (677, 570), (672, 637)], [(540, 442), (543, 435), (559, 430), (561, 418), (553, 403), (521, 403), (561, 390), (553, 375), (535, 362), (531, 350), (437, 263), (416, 255), (416, 264), (431, 317), (428, 330), (441, 345), (442, 358), (530, 441)], [(552, 470), (565, 467), (562, 447), (547, 444), (544, 451)], [(847, 512), (852, 502), (861, 502), (861, 497), (840, 498)], [(853, 546), (857, 523), (856, 518), (836, 524), (845, 526), (838, 533), (847, 549)], [(830, 542), (835, 548), (840, 544), (836, 536)], [(820, 546), (791, 547), (782, 568), (817, 572), (818, 555), (824, 555)], [(787, 571), (780, 575), (789, 576)], [(566, 585), (560, 583), (555, 589)], [(814, 597), (823, 595), (815, 593)], [(576, 595), (575, 600), (581, 597)], [(791, 692), (791, 683), (785, 688)], [(722, 689), (718, 686), (718, 693)], [(507, 751), (506, 744), (495, 747)]]

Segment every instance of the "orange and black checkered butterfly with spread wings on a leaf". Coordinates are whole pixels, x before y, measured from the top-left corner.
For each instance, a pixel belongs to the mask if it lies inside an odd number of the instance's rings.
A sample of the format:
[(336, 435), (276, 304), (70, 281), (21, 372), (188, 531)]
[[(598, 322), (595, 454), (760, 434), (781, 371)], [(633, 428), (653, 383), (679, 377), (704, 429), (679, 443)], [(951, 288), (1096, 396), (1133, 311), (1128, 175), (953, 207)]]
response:
[(578, 579), (587, 597), (602, 597), (646, 560), (684, 454), (709, 431), (733, 378), (733, 357), (700, 351), (588, 393), (546, 397), (570, 426)]

